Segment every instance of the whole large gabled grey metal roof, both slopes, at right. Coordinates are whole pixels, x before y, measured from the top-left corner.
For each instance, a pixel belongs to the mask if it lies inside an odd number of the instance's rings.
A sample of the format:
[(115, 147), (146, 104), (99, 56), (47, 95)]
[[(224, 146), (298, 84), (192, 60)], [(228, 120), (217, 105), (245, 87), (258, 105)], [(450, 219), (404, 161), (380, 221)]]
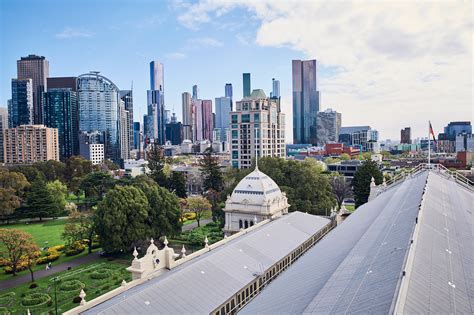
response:
[(472, 314), (473, 200), (443, 175), (414, 175), (361, 206), (241, 312)]

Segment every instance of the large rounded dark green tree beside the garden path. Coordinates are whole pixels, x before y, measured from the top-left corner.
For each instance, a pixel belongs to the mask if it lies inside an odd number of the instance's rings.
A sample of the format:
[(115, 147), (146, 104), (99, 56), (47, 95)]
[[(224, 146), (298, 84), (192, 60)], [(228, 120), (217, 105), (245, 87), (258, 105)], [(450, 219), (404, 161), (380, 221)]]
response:
[(150, 236), (148, 200), (133, 186), (115, 186), (98, 204), (94, 223), (102, 248), (109, 253), (128, 251)]

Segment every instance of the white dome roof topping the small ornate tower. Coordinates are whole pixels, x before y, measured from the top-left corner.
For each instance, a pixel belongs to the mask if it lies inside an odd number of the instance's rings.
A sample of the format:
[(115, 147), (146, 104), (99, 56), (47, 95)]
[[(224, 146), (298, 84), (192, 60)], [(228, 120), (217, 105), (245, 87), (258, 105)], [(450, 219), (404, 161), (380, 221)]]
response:
[(261, 206), (280, 198), (283, 194), (275, 181), (256, 168), (237, 184), (230, 201)]

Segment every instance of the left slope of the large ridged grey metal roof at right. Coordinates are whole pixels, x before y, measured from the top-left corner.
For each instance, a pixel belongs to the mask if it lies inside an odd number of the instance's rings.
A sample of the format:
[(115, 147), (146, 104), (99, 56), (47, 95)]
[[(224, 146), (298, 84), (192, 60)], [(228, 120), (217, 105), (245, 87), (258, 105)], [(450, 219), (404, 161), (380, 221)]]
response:
[(427, 175), (361, 206), (241, 312), (389, 313)]

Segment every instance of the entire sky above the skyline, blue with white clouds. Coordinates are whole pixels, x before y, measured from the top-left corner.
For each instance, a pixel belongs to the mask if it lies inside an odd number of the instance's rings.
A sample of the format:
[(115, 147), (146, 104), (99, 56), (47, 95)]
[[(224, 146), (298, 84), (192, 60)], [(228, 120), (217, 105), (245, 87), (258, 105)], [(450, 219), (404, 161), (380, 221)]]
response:
[[(382, 138), (402, 127), (426, 136), (472, 119), (470, 2), (0, 1), (0, 106), (16, 60), (46, 56), (50, 76), (100, 71), (122, 89), (133, 81), (136, 120), (146, 108), (151, 60), (165, 65), (165, 103), (181, 117), (181, 93), (198, 84), (212, 99), (242, 72), (268, 94), (281, 81), (291, 139), (291, 60), (318, 59), (323, 109)], [(449, 12), (449, 14), (445, 14)], [(470, 70), (470, 71), (469, 71)], [(289, 140), (287, 139), (287, 140)]]

